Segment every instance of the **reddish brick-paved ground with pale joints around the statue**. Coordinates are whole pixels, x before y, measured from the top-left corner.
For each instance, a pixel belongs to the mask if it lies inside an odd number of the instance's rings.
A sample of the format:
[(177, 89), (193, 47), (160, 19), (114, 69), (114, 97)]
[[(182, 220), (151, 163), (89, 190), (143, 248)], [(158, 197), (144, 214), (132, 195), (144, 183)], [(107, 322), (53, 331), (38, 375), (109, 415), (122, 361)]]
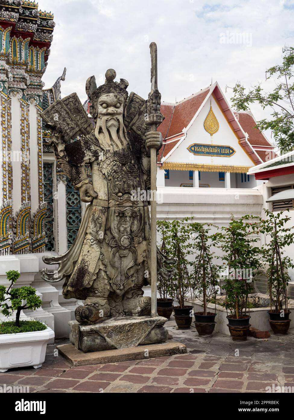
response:
[(174, 340), (187, 345), (188, 354), (72, 367), (61, 356), (55, 357), (55, 345), (49, 345), (42, 368), (0, 373), (0, 386), (29, 386), (31, 393), (263, 393), (273, 384), (294, 386), (293, 332), (236, 343), (220, 333), (201, 338), (193, 327), (177, 330), (174, 320), (167, 325)]

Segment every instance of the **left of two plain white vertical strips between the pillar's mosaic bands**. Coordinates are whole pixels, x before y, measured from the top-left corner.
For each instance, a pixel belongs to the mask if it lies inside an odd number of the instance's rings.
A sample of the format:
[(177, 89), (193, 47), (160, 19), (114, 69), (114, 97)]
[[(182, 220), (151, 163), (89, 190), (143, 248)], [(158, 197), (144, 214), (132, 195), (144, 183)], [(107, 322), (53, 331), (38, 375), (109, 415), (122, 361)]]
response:
[(11, 95), (11, 139), (12, 139), (12, 175), (13, 175), (13, 215), (21, 207), (21, 104), (19, 94)]

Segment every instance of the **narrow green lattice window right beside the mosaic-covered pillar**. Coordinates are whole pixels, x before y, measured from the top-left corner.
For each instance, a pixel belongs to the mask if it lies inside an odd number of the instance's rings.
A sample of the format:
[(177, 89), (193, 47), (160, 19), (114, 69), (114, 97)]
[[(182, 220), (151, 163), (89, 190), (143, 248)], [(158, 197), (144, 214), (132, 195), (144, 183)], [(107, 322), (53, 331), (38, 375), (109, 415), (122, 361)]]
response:
[(54, 164), (51, 162), (43, 163), (44, 173), (44, 201), (47, 202), (47, 216), (45, 218), (45, 232), (48, 242), (46, 244), (46, 251), (55, 251), (55, 237), (54, 237), (54, 208), (53, 208), (53, 175)]

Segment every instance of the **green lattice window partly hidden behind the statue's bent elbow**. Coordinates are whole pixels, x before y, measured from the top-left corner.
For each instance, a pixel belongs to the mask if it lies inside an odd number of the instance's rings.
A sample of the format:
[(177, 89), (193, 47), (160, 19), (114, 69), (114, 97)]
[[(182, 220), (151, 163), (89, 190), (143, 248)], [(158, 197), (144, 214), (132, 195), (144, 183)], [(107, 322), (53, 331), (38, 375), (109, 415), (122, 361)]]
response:
[(68, 228), (68, 248), (71, 247), (82, 220), (82, 208), (80, 193), (76, 191), (70, 180), (66, 184), (66, 210), (67, 210), (67, 228)]

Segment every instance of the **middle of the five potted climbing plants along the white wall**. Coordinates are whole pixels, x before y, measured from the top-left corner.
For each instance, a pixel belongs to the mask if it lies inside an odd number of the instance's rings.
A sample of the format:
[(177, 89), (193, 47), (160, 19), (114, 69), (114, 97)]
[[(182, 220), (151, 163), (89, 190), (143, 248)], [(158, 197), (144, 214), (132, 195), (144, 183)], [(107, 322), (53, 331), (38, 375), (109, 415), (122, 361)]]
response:
[(203, 311), (195, 312), (195, 327), (200, 336), (211, 335), (215, 328), (216, 312), (209, 312), (207, 305), (212, 300), (216, 302), (219, 267), (213, 264), (214, 252), (211, 252), (210, 225), (191, 223), (191, 238), (193, 240), (192, 288), (194, 296), (202, 302)]

